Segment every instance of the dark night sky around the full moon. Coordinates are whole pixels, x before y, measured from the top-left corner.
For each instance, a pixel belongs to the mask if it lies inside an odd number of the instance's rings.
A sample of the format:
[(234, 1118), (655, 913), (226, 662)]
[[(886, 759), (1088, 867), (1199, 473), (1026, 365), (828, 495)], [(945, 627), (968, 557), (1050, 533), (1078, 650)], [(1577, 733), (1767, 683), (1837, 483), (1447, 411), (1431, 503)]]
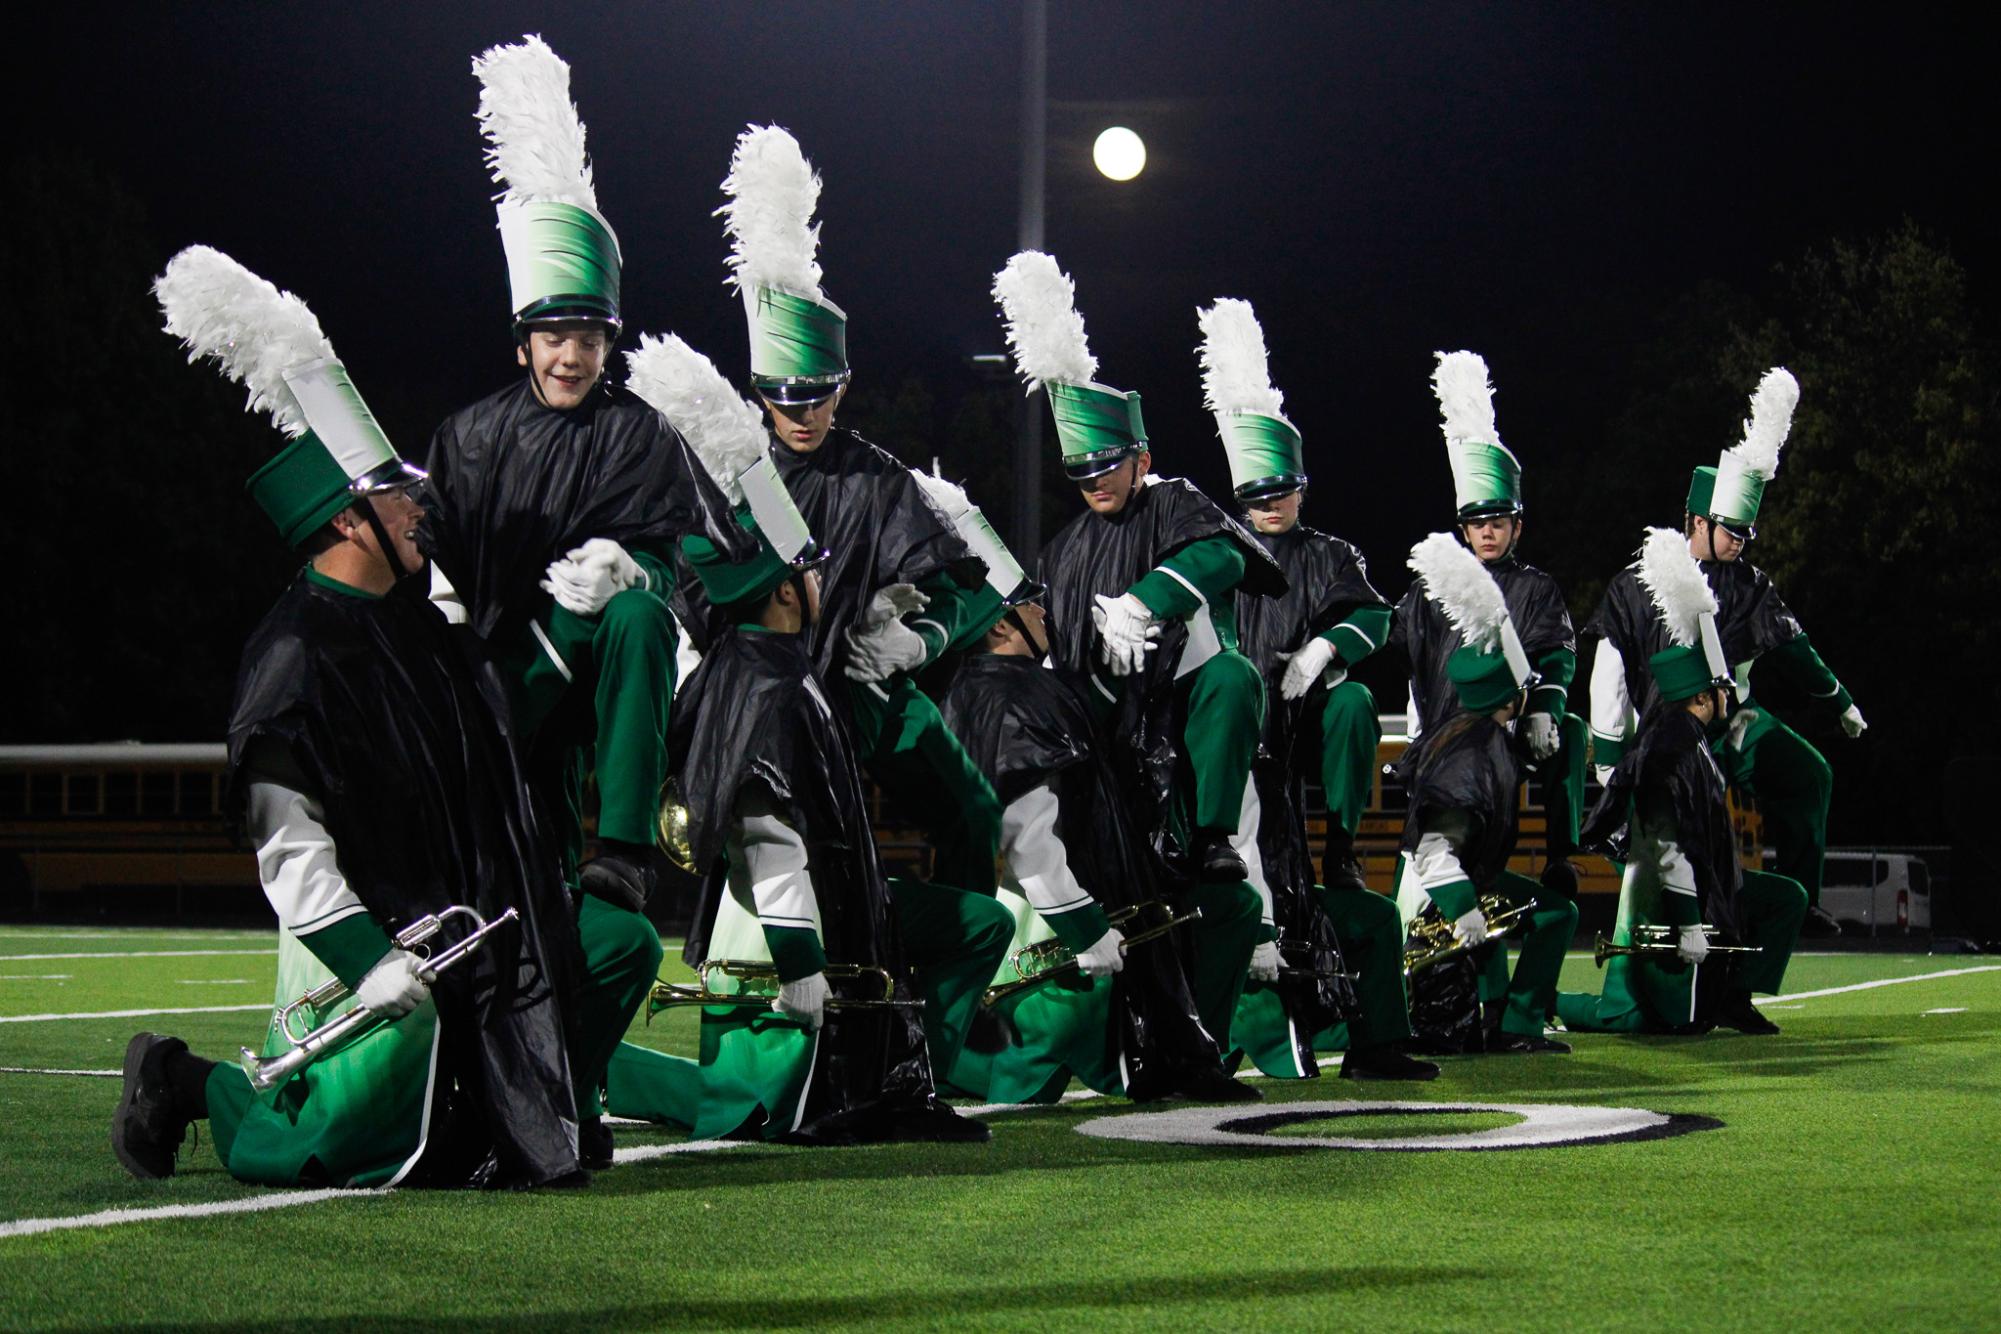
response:
[[(788, 126), (826, 182), (820, 258), (862, 386), (950, 384), (964, 354), (1000, 348), (1011, 4), (170, 4), (38, 22), (14, 50), (32, 126), (16, 120), (12, 148), (78, 154), (142, 198), (162, 264), (208, 242), (306, 296), (406, 452), (510, 374), (468, 60), (522, 32), (572, 64), (632, 332), (680, 332), (742, 372), (710, 210), (754, 120)], [(1159, 466), (1207, 484), (1223, 464), (1195, 308), (1253, 300), (1307, 434), (1315, 518), (1377, 552), (1395, 590), (1391, 552), (1449, 504), (1435, 348), (1487, 354), (1533, 506), (1539, 462), (1585, 456), (1623, 404), (1645, 316), (1699, 280), (1757, 284), (1909, 214), (1985, 298), (1991, 42), (1975, 22), (1053, 0), (1047, 246), (1077, 278), (1101, 378), (1145, 392)], [(1089, 166), (1111, 122), (1149, 142), (1127, 186)], [(1691, 442), (1689, 462), (1723, 444)]]

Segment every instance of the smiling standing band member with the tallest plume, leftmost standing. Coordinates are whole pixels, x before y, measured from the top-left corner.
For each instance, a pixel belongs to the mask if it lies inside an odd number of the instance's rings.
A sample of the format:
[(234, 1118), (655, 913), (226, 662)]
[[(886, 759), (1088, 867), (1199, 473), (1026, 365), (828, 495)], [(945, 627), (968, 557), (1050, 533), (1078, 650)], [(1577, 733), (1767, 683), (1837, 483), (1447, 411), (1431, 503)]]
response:
[[(472, 62), (526, 370), (446, 418), (430, 442), (422, 528), (432, 598), (464, 620), (506, 682), (536, 794), (580, 886), (578, 930), (630, 988), (582, 998), (584, 1160), (610, 1164), (598, 1118), (604, 1062), (624, 1036), (660, 938), (640, 914), (658, 878), (654, 818), (666, 780), (676, 630), (672, 542), (742, 538), (686, 444), (604, 382), (618, 334), (618, 238), (596, 210), (570, 70), (540, 38)], [(584, 776), (598, 790), (598, 856), (582, 866)], [(646, 962), (646, 956), (652, 962)], [(606, 974), (608, 976), (608, 974)]]

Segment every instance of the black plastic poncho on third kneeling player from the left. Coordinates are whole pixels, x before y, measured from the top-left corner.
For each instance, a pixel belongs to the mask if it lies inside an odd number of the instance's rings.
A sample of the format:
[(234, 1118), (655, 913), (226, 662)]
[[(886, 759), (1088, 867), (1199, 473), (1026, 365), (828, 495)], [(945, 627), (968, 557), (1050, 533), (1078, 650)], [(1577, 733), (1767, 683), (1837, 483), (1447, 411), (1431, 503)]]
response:
[[(1107, 910), (1161, 900), (1153, 858), (1131, 828), (1111, 768), (1099, 758), (1091, 712), (1059, 672), (1033, 658), (970, 654), (944, 696), (944, 722), (1003, 802), (1049, 784), (1057, 836), (1071, 872)], [(1131, 934), (1131, 928), (1127, 930)], [(1159, 1098), (1191, 1074), (1217, 1070), (1221, 1052), (1203, 1030), (1195, 994), (1171, 938), (1135, 946), (1113, 978), (1127, 1096)]]

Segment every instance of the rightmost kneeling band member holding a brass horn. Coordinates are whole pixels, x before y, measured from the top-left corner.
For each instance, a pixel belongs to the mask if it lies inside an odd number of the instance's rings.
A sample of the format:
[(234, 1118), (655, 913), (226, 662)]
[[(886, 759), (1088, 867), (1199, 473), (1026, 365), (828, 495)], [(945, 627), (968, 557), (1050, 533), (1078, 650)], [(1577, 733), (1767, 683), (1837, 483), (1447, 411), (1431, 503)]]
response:
[[(1773, 1034), (1779, 1026), (1759, 1014), (1751, 992), (1779, 992), (1807, 892), (1797, 880), (1737, 864), (1723, 772), (1711, 752), (1711, 740), (1729, 728), (1731, 672), (1717, 634), (1717, 596), (1687, 536), (1649, 530), (1635, 580), (1667, 648), (1647, 658), (1653, 704), (1637, 742), (1611, 772), (1587, 836), (1621, 836), (1613, 848), (1625, 862), (1613, 944), (1633, 948), (1645, 928), (1659, 926), (1673, 928), (1673, 950), (1615, 956), (1601, 994), (1565, 992), (1557, 1014), (1573, 1032), (1701, 1032), (1723, 1024)], [(1705, 922), (1743, 936), (1757, 956), (1735, 968), (1735, 956), (1705, 964), (1713, 952)]]

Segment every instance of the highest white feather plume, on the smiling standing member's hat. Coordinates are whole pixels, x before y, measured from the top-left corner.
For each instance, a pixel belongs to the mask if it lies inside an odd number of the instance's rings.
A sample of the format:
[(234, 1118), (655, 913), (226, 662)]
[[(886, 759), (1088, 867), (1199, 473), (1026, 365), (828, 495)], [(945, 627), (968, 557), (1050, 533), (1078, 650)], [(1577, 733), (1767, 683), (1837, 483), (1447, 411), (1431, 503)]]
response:
[(556, 202), (596, 212), (584, 122), (570, 102), (570, 66), (538, 36), (472, 58), (480, 80), (486, 166), (508, 204)]

